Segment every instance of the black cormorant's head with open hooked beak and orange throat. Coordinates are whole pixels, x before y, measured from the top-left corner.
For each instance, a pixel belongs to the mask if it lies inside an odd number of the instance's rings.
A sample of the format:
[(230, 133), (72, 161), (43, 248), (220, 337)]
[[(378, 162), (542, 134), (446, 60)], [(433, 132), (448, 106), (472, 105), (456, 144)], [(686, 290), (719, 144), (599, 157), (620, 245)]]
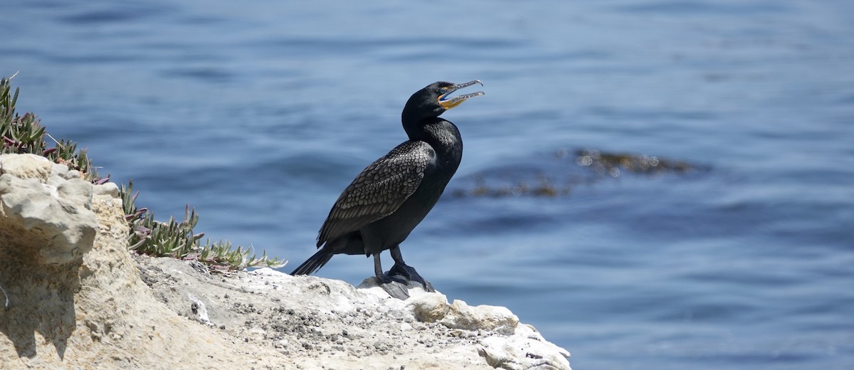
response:
[(483, 86), (483, 83), (477, 79), (466, 82), (465, 84), (452, 84), (450, 82), (439, 81), (427, 85), (424, 89), (416, 91), (412, 94), (412, 97), (409, 97), (407, 105), (403, 108), (403, 116), (405, 119), (408, 117), (414, 120), (438, 117), (442, 113), (445, 113), (447, 109), (458, 106), (470, 97), (484, 95), (483, 91), (477, 91), (471, 94), (451, 97), (453, 91), (475, 84)]

